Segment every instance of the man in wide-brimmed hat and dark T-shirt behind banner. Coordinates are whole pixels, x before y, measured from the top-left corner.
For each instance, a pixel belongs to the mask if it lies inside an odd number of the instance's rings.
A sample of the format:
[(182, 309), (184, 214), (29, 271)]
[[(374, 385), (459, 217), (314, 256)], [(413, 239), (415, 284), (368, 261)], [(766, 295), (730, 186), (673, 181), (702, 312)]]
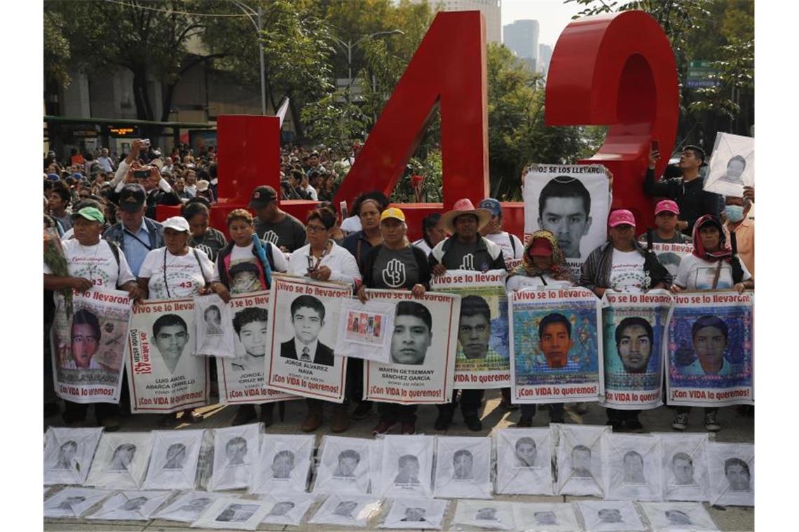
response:
[[(455, 202), (452, 210), (441, 217), (444, 229), (452, 236), (438, 243), (428, 258), (434, 275), (443, 275), (447, 270), (504, 270), (502, 250), (494, 242), (479, 235), (478, 231), (491, 220), (491, 211), (475, 209), (470, 199)], [(483, 429), (477, 414), (484, 390), (462, 390), (460, 409), (463, 420), (472, 431)], [(439, 416), (435, 419), (435, 430), (443, 431), (452, 423), (455, 413), (455, 396), (452, 402), (438, 405)]]

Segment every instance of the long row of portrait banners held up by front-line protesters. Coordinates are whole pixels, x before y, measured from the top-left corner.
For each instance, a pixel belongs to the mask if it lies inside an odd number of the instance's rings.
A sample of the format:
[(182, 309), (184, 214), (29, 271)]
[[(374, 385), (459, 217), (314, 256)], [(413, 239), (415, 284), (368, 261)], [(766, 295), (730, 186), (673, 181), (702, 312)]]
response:
[[(269, 292), (145, 301), (76, 294), (53, 328), (56, 389), (118, 402), (122, 361), (133, 412), (306, 396), (341, 402), (348, 357), (366, 360), (364, 396), (441, 404), (452, 388), (511, 386), (515, 403), (613, 408), (753, 404), (753, 295), (665, 290), (504, 293), (504, 272), (449, 271), (422, 298), (276, 276)], [(63, 316), (63, 313), (60, 313)], [(123, 339), (127, 337), (127, 341)], [(123, 356), (124, 353), (124, 356)], [(346, 355), (346, 356), (344, 356)]]

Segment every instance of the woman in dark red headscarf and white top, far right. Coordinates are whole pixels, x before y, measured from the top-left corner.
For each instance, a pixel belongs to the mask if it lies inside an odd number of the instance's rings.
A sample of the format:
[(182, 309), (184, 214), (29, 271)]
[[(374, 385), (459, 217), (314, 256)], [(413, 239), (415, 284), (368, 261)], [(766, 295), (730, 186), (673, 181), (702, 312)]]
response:
[[(754, 288), (754, 279), (745, 264), (727, 246), (721, 222), (713, 215), (704, 215), (694, 224), (694, 252), (682, 258), (677, 278), (671, 286), (672, 292), (682, 290), (744, 290)], [(707, 325), (709, 328), (712, 325)], [(699, 332), (699, 331), (698, 331)], [(671, 428), (684, 431), (688, 427), (691, 408), (677, 407)], [(718, 432), (721, 425), (717, 419), (718, 408), (705, 408), (705, 428)]]

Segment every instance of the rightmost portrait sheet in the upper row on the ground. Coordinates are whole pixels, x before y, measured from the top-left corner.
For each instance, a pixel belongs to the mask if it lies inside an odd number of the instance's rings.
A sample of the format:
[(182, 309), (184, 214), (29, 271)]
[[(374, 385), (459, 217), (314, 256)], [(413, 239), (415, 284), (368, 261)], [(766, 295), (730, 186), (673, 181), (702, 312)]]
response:
[(710, 504), (754, 506), (754, 444), (707, 444)]

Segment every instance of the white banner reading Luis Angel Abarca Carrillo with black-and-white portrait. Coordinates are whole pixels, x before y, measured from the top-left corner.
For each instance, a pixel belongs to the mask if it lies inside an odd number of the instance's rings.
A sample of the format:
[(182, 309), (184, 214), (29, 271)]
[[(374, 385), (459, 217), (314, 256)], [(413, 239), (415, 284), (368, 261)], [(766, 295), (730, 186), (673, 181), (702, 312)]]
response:
[(133, 307), (125, 364), (133, 413), (180, 412), (208, 404), (208, 357), (195, 357), (192, 298)]

